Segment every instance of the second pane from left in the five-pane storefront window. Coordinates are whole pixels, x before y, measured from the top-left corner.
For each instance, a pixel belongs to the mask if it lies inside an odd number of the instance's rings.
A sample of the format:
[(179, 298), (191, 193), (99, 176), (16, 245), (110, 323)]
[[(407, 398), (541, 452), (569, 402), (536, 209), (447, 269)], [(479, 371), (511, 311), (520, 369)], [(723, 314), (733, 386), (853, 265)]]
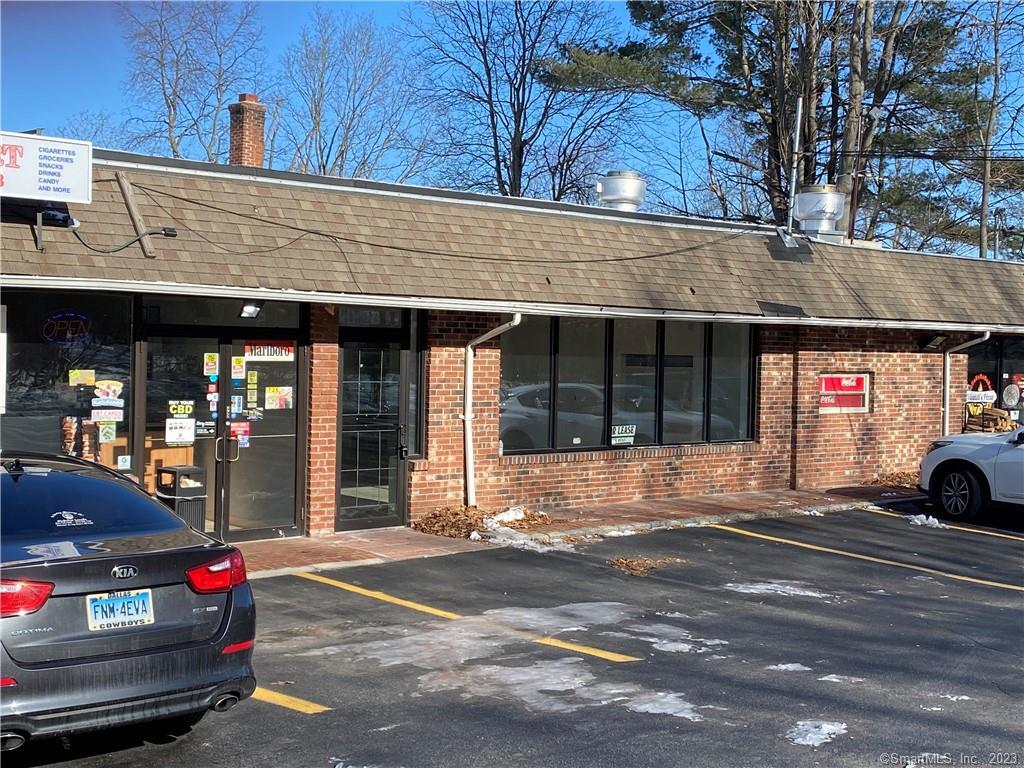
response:
[(604, 444), (603, 319), (558, 323), (558, 447)]

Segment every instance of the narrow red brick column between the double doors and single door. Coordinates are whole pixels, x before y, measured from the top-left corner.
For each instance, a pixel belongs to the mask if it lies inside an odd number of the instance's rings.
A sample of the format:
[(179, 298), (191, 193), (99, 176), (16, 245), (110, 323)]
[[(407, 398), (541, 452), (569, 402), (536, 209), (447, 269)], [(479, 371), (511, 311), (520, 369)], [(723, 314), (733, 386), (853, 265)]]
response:
[(314, 304), (309, 312), (309, 446), (306, 457), (306, 534), (334, 532), (338, 453), (338, 314)]

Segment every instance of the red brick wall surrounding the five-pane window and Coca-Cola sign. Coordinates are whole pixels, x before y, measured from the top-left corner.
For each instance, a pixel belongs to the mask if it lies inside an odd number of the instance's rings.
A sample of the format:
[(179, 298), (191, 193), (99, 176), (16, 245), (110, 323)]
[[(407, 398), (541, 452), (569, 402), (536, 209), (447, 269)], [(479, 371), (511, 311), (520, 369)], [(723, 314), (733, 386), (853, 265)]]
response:
[[(498, 315), (431, 312), (426, 354), (426, 457), (410, 474), (410, 513), (463, 501), (464, 349)], [(941, 429), (942, 354), (922, 334), (765, 327), (759, 334), (756, 440), (540, 456), (498, 456), (500, 340), (474, 367), (477, 502), (537, 509), (691, 494), (853, 484), (913, 470)], [(956, 343), (950, 339), (947, 344)], [(871, 412), (819, 415), (817, 375), (871, 374)], [(967, 356), (954, 355), (950, 427), (958, 424)]]

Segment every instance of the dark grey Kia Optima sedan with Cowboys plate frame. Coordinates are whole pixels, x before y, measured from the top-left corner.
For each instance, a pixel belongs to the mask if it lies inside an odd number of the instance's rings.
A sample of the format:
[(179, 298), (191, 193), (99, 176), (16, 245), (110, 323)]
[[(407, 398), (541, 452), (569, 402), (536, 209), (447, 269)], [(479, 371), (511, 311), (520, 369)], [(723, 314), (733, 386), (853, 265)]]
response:
[(252, 694), (256, 609), (242, 553), (128, 478), (0, 454), (0, 733), (193, 725)]

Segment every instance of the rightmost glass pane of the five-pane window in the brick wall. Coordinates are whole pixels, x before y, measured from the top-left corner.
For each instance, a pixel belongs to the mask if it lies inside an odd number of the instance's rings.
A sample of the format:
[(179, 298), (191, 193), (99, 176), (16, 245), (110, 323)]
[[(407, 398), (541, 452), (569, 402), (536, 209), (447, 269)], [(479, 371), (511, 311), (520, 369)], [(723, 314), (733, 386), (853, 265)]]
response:
[(751, 432), (751, 327), (716, 324), (712, 352), (710, 439), (746, 439)]

